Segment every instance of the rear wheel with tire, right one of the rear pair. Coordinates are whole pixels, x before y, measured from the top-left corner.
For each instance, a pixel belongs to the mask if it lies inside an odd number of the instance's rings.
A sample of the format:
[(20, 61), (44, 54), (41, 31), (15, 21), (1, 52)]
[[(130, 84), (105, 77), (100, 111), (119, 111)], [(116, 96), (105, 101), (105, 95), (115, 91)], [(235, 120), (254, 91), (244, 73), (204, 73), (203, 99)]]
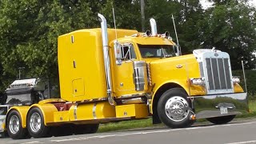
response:
[(49, 136), (50, 127), (45, 126), (42, 111), (38, 107), (33, 107), (27, 116), (27, 130), (34, 138), (44, 138)]

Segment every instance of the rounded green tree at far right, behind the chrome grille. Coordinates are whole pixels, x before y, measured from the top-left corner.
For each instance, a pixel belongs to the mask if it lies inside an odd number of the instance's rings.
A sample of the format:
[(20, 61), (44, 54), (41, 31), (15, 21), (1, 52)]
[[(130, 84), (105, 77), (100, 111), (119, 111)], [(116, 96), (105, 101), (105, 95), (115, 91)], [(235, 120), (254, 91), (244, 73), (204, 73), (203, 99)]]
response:
[(246, 69), (254, 68), (255, 12), (254, 7), (244, 2), (233, 1), (206, 10), (200, 24), (202, 47), (226, 51), (233, 70), (241, 69), (241, 61)]

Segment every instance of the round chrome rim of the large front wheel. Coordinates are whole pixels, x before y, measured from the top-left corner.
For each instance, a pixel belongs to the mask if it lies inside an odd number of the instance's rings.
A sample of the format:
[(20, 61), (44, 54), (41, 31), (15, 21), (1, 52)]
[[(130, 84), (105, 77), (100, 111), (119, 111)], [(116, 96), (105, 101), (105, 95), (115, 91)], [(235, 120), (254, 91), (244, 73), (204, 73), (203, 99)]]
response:
[(185, 98), (174, 96), (166, 101), (165, 111), (170, 120), (180, 122), (189, 115), (189, 108)]

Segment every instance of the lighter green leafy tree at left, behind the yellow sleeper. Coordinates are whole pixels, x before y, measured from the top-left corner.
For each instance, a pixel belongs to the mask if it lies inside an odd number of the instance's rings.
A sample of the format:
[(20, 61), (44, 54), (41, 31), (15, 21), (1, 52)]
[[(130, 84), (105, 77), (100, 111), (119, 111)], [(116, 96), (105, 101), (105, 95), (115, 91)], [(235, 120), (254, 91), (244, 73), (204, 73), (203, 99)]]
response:
[(58, 78), (58, 36), (95, 26), (96, 18), (91, 17), (88, 2), (1, 2), (2, 73), (10, 75), (10, 79), (3, 81), (13, 81), (19, 66), (26, 67), (28, 78)]

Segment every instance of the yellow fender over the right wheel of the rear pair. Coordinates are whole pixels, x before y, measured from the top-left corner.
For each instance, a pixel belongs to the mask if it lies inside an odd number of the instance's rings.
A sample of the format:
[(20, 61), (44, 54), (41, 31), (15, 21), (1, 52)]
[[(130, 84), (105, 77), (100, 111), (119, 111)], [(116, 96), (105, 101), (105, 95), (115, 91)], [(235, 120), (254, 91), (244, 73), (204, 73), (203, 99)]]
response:
[(58, 110), (53, 104), (34, 104), (30, 106), (30, 110), (34, 107), (38, 107), (42, 111), (45, 126), (48, 126), (47, 123), (54, 122), (54, 112), (57, 112)]

